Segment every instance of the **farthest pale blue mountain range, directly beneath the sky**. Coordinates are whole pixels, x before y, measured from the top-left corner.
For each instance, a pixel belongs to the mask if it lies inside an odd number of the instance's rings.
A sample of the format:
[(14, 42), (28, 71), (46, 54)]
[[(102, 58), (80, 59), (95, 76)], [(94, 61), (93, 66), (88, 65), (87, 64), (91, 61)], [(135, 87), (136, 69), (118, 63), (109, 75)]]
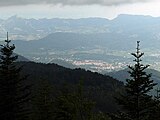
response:
[[(119, 15), (113, 20), (105, 18), (81, 19), (25, 19), (12, 16), (0, 20), (0, 36), (5, 38), (6, 32), (11, 39), (34, 40), (55, 32), (71, 33), (105, 33), (108, 36), (119, 35), (126, 39), (145, 41), (160, 39), (160, 18), (140, 15)], [(151, 38), (151, 39), (150, 39)]]

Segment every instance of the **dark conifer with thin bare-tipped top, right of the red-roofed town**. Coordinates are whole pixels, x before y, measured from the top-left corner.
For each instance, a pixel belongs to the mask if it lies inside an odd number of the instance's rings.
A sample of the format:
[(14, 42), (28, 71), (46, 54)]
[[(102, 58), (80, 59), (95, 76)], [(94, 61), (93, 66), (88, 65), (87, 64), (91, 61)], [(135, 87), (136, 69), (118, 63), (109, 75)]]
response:
[(137, 41), (136, 53), (132, 53), (135, 64), (128, 66), (131, 78), (126, 80), (125, 93), (117, 98), (117, 102), (124, 108), (128, 119), (148, 120), (154, 105), (152, 96), (148, 93), (156, 84), (150, 79), (151, 74), (145, 72), (149, 65), (141, 64), (144, 53), (140, 52), (139, 43)]

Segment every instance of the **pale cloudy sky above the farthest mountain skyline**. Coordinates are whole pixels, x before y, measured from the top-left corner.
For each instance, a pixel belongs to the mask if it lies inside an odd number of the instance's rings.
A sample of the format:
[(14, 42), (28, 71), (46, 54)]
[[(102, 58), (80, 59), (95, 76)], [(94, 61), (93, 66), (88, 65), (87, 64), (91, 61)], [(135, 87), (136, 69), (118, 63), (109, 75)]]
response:
[(113, 19), (119, 14), (160, 16), (160, 0), (0, 0), (0, 18)]

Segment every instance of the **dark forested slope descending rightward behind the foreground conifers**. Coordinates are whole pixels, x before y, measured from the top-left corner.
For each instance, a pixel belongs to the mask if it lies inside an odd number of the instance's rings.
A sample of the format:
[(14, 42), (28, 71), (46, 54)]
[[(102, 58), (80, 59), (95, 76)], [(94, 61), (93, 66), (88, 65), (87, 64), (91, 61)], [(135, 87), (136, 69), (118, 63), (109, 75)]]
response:
[(123, 83), (99, 73), (86, 71), (84, 69), (68, 69), (57, 64), (43, 64), (34, 62), (18, 62), (23, 65), (23, 74), (28, 74), (28, 81), (34, 85), (40, 80), (49, 80), (56, 86), (55, 92), (63, 88), (64, 84), (71, 86), (72, 89), (83, 80), (85, 94), (96, 102), (97, 111), (115, 112), (117, 105), (114, 96), (123, 86)]

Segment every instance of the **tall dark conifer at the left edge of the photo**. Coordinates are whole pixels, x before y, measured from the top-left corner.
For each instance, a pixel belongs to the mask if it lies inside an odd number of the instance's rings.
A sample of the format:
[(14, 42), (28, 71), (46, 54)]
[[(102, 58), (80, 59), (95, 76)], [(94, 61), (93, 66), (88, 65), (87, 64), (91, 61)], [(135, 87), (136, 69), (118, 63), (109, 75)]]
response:
[(15, 65), (18, 56), (13, 55), (15, 46), (10, 42), (7, 33), (0, 48), (0, 120), (25, 120), (29, 116), (29, 86), (20, 75), (22, 67)]

